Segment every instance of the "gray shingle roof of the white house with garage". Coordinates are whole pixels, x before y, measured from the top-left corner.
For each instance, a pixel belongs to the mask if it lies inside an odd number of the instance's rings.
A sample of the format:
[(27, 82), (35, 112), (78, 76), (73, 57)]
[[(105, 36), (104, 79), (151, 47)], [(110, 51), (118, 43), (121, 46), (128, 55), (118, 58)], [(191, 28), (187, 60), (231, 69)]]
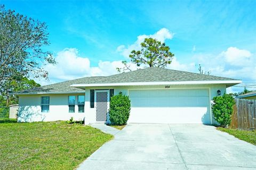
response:
[(151, 67), (106, 77), (84, 77), (66, 82), (42, 86), (39, 88), (19, 92), (26, 93), (68, 93), (83, 92), (80, 88), (71, 87), (73, 84), (104, 84), (104, 83), (131, 83), (131, 82), (183, 82), (183, 81), (212, 81), (236, 80), (226, 77), (196, 74), (193, 72), (177, 71), (158, 67)]

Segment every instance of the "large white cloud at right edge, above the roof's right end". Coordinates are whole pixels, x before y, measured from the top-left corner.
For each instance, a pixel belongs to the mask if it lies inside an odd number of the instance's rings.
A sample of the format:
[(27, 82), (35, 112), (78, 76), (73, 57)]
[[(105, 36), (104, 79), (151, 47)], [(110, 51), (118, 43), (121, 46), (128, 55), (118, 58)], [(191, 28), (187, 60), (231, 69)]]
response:
[[(203, 66), (203, 70), (211, 70), (211, 75), (256, 82), (256, 55), (250, 51), (229, 47), (217, 55), (195, 54), (193, 59)], [(229, 87), (227, 93), (243, 90), (243, 87)]]

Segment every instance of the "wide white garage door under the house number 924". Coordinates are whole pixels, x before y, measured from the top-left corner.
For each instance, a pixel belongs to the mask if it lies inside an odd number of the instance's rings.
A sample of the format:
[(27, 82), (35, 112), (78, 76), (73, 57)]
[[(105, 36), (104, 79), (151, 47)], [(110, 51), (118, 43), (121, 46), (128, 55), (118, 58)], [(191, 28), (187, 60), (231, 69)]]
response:
[(209, 90), (129, 90), (129, 123), (211, 124)]

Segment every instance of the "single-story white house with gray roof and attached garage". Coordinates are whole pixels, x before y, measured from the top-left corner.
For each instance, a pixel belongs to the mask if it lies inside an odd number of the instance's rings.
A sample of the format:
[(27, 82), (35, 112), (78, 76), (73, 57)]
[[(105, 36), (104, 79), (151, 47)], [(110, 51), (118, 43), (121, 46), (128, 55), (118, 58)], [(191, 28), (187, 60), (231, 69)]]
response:
[(211, 100), (241, 80), (164, 68), (85, 77), (16, 93), (18, 122), (107, 122), (110, 96), (129, 95), (128, 123), (213, 124)]

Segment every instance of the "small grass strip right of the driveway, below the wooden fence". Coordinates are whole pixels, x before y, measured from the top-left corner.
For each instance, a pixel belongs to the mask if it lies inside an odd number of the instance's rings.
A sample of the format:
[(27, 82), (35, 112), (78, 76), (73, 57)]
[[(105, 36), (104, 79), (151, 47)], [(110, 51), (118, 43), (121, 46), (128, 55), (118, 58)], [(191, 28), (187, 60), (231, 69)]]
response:
[(256, 145), (256, 131), (255, 130), (254, 131), (241, 131), (238, 129), (223, 128), (223, 127), (218, 127), (217, 129), (222, 132), (227, 132), (230, 135), (237, 137), (238, 139), (241, 139), (243, 141), (246, 141), (246, 142)]

